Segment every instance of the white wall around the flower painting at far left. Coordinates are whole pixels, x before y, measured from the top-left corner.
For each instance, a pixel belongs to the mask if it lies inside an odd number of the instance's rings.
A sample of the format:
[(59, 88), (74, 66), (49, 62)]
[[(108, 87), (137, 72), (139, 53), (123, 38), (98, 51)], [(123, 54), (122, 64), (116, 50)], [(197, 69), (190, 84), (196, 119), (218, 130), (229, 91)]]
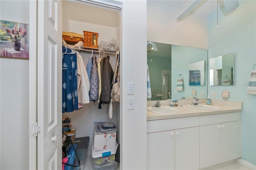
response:
[[(29, 24), (29, 1), (0, 1), (0, 20)], [(32, 56), (30, 56), (32, 57)], [(29, 61), (0, 58), (0, 169), (28, 169)]]

